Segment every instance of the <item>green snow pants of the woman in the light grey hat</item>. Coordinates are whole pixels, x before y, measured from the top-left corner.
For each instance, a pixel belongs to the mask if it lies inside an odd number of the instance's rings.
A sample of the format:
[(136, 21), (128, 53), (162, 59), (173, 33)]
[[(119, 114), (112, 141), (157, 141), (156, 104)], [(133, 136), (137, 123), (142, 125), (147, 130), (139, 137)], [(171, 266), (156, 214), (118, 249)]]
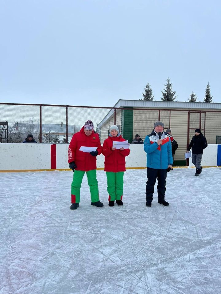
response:
[(109, 194), (108, 201), (122, 200), (124, 171), (106, 171), (106, 174), (107, 192)]

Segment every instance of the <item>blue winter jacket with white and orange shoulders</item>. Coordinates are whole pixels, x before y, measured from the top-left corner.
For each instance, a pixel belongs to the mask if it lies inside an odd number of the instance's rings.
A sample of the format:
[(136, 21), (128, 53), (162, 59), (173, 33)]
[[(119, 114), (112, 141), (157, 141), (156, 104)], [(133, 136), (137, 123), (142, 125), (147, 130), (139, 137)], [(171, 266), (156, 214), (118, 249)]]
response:
[(171, 141), (165, 133), (162, 134), (161, 139), (163, 144), (158, 146), (159, 136), (153, 131), (144, 140), (144, 151), (147, 153), (148, 168), (167, 169), (168, 165), (173, 164)]

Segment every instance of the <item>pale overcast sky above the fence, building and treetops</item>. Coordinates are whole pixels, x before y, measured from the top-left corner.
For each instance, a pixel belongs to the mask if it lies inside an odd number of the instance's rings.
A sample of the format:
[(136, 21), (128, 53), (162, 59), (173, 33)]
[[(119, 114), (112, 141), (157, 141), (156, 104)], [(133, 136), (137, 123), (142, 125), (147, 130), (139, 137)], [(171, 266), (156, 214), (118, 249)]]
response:
[(0, 102), (220, 99), (220, 1), (0, 0)]

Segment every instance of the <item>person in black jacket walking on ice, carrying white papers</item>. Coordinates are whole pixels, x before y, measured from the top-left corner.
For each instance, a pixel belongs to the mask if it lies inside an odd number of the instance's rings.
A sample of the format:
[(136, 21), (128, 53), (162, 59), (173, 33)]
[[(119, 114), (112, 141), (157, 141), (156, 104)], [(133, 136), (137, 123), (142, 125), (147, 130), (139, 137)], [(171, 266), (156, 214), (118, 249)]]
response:
[(207, 140), (204, 137), (204, 135), (201, 133), (200, 129), (195, 130), (195, 136), (192, 137), (192, 140), (187, 148), (187, 152), (189, 152), (191, 148), (192, 148), (192, 163), (196, 167), (195, 176), (198, 177), (202, 172), (202, 167), (200, 163), (203, 156), (203, 150), (207, 148)]

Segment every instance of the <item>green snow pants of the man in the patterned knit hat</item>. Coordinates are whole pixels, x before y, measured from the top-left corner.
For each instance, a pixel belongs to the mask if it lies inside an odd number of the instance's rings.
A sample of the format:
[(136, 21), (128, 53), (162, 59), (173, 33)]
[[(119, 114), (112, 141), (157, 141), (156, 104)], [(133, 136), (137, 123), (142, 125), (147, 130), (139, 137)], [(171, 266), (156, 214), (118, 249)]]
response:
[(80, 202), (80, 188), (83, 180), (84, 173), (87, 175), (87, 182), (90, 187), (91, 192), (91, 202), (99, 201), (99, 191), (97, 182), (97, 170), (93, 169), (91, 171), (74, 171), (72, 189), (71, 189), (71, 201), (72, 203)]

